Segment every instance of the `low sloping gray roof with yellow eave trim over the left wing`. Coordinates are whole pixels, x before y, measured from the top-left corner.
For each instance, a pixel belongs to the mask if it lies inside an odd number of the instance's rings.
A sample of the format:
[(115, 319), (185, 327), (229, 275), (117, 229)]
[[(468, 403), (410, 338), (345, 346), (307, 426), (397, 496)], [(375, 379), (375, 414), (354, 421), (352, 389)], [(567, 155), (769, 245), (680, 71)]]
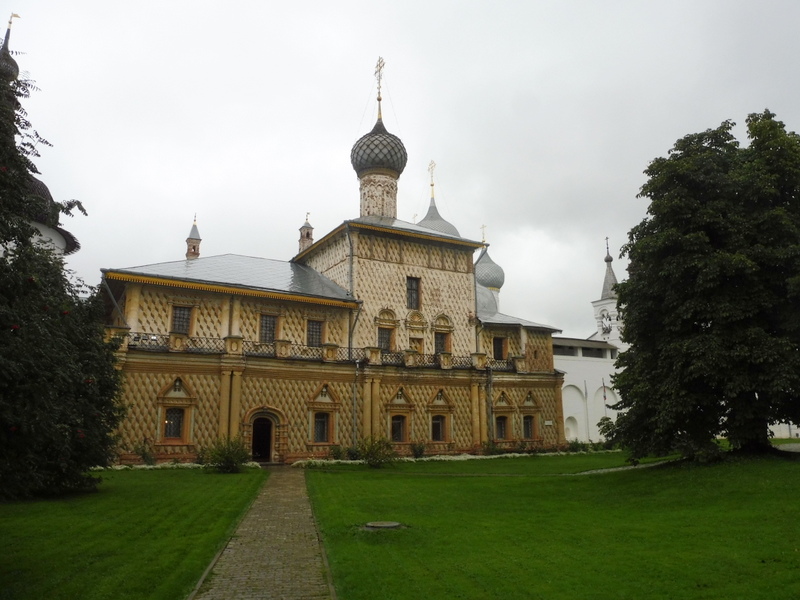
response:
[(353, 308), (347, 291), (311, 267), (221, 254), (125, 269), (101, 269), (106, 279), (313, 302)]

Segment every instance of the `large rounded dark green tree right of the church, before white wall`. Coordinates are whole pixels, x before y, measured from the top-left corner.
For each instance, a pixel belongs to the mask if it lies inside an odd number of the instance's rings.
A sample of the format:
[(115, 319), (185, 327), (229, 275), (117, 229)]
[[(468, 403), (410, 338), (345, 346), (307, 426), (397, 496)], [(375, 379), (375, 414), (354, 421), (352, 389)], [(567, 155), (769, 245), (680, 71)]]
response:
[(718, 436), (769, 447), (771, 423), (800, 423), (800, 137), (769, 111), (687, 135), (645, 171), (647, 217), (629, 233), (624, 411), (634, 458), (696, 455)]

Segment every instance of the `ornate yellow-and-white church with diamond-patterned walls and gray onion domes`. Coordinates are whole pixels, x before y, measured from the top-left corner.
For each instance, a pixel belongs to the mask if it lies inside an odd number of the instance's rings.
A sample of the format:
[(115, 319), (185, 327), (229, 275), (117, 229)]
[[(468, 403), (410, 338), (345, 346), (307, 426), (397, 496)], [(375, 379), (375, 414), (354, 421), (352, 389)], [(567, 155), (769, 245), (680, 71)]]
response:
[(564, 442), (558, 330), (500, 312), (502, 269), (439, 214), (433, 183), (427, 215), (397, 219), (407, 154), (378, 84), (377, 122), (350, 156), (357, 217), (318, 239), (307, 218), (289, 261), (202, 256), (195, 223), (183, 259), (103, 269), (123, 460), (142, 443), (191, 460), (236, 435), (266, 462), (369, 437), (401, 454)]

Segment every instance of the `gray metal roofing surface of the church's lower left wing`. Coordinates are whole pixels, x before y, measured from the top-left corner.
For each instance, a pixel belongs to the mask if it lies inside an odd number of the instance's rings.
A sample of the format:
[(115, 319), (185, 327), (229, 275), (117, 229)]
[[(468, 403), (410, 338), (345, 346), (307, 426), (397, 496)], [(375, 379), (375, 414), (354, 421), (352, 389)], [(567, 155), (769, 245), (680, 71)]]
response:
[(238, 254), (221, 254), (125, 269), (102, 269), (102, 272), (353, 301), (347, 290), (311, 267)]

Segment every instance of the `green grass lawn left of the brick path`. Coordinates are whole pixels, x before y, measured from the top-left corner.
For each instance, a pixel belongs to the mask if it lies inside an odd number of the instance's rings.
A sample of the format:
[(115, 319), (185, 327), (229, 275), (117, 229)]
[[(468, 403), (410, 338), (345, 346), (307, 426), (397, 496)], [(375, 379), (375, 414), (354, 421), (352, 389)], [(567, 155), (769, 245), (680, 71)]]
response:
[(266, 475), (109, 471), (97, 493), (0, 504), (0, 599), (185, 598)]

